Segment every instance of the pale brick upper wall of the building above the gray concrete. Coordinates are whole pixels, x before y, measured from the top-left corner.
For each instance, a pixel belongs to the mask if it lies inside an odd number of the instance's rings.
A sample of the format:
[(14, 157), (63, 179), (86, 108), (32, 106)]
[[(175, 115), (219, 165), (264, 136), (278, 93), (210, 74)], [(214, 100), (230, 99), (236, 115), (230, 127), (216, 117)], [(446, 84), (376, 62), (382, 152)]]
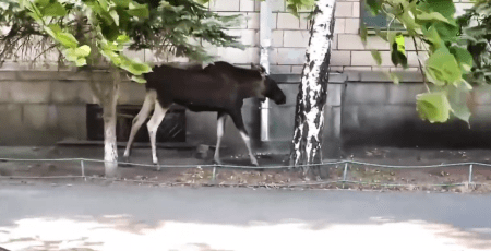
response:
[[(472, 5), (470, 0), (454, 0), (457, 14), (465, 8)], [(244, 51), (232, 48), (209, 48), (211, 52), (220, 59), (237, 64), (259, 62), (259, 24), (260, 2), (252, 0), (213, 0), (208, 3), (211, 11), (220, 14), (242, 14), (247, 22), (230, 32), (240, 35), (241, 41), (250, 46)], [(360, 22), (363, 0), (337, 0), (335, 12), (334, 43), (331, 55), (331, 70), (349, 71), (397, 71), (390, 57), (388, 44), (383, 39), (369, 35), (367, 46), (360, 39)], [(300, 11), (300, 19), (286, 11), (285, 0), (271, 0), (273, 11), (272, 50), (270, 52), (271, 72), (283, 74), (300, 74), (309, 43), (309, 23), (306, 17), (308, 10)], [(382, 65), (376, 65), (370, 50), (378, 49), (382, 55)], [(418, 70), (416, 49), (409, 39), (406, 39), (408, 57), (408, 71)]]

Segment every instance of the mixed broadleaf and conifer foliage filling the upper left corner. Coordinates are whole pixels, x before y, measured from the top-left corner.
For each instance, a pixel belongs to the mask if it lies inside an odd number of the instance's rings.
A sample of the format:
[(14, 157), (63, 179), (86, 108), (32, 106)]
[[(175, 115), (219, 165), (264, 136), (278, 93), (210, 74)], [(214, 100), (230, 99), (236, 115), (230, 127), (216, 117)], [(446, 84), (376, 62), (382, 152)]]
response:
[(0, 26), (10, 27), (0, 35), (0, 60), (29, 46), (19, 41), (40, 37), (77, 67), (97, 65), (101, 56), (144, 83), (141, 75), (151, 65), (125, 56), (124, 47), (207, 61), (212, 57), (193, 40), (242, 48), (226, 34), (238, 22), (237, 15), (211, 13), (193, 0), (0, 0)]

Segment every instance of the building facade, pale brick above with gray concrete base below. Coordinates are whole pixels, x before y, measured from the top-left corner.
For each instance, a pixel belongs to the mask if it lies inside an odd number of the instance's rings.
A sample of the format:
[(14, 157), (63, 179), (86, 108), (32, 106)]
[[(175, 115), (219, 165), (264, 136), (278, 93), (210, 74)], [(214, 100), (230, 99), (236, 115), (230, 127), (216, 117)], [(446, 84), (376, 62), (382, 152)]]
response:
[[(472, 3), (454, 1), (458, 13)], [(280, 83), (287, 95), (287, 104), (271, 106), (268, 112), (270, 142), (285, 147), (291, 139), (296, 94), (309, 43), (308, 10), (300, 19), (289, 14), (284, 0), (267, 0), (271, 8), (271, 74)], [(252, 0), (213, 0), (211, 11), (223, 15), (242, 14), (244, 22), (229, 33), (241, 37), (248, 46), (244, 50), (205, 46), (218, 60), (249, 68), (260, 62), (260, 2)], [(380, 17), (370, 17), (361, 0), (337, 0), (335, 36), (332, 48), (331, 77), (325, 121), (324, 152), (336, 157), (340, 148), (359, 145), (394, 145), (414, 147), (429, 146), (489, 146), (487, 142), (488, 113), (491, 97), (486, 91), (477, 91), (478, 107), (471, 120), (471, 130), (462, 121), (447, 124), (430, 124), (421, 121), (415, 109), (418, 93), (424, 92), (422, 76), (418, 72), (415, 46), (406, 39), (409, 69), (399, 72), (390, 60), (390, 47), (382, 39), (369, 36), (367, 46), (361, 43), (361, 22), (370, 26), (383, 26)], [(378, 67), (370, 50), (382, 55)], [(185, 58), (157, 59), (151, 51), (128, 51), (130, 56), (153, 63), (187, 62)], [(383, 74), (398, 72), (402, 84), (394, 85)], [(108, 81), (106, 73), (98, 73), (99, 81)], [(5, 62), (0, 69), (0, 145), (53, 144), (70, 138), (86, 140), (87, 104), (95, 99), (88, 86), (87, 75), (73, 71), (56, 71), (38, 67), (28, 69), (22, 62)], [(144, 87), (125, 81), (120, 89), (120, 105), (141, 105)], [(244, 121), (252, 138), (259, 141), (261, 128), (260, 105), (249, 100), (243, 108)], [(187, 136), (189, 140), (214, 144), (216, 140), (216, 115), (187, 111)], [(246, 147), (231, 120), (227, 122), (224, 144), (243, 152)], [(448, 133), (453, 133), (453, 140)], [(466, 140), (467, 139), (467, 140)], [(471, 143), (469, 143), (469, 140)], [(474, 143), (472, 143), (474, 142)], [(491, 144), (491, 143), (490, 143)]]

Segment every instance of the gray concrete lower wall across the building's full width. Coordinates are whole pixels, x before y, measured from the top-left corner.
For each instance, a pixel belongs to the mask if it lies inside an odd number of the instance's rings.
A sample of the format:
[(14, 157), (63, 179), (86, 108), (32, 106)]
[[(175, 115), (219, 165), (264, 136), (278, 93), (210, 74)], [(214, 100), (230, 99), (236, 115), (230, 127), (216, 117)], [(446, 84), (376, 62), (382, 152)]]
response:
[[(107, 73), (96, 79), (109, 81)], [(349, 81), (345, 85), (344, 77)], [(339, 157), (340, 147), (491, 147), (491, 92), (477, 88), (477, 107), (471, 128), (453, 119), (431, 124), (419, 119), (416, 98), (424, 92), (417, 72), (400, 73), (394, 85), (380, 72), (350, 72), (333, 75), (325, 107), (324, 156)], [(294, 131), (299, 75), (276, 75), (287, 95), (287, 104), (272, 105), (271, 142), (267, 151), (288, 153)], [(346, 86), (346, 87), (345, 87)], [(144, 86), (124, 82), (119, 104), (141, 105)], [(86, 104), (94, 104), (86, 73), (71, 71), (0, 72), (0, 145), (50, 145), (65, 138), (86, 139)], [(258, 140), (259, 101), (246, 100), (242, 113), (251, 138)], [(187, 111), (190, 142), (215, 144), (216, 112)], [(224, 144), (235, 153), (246, 146), (231, 119), (227, 120)]]

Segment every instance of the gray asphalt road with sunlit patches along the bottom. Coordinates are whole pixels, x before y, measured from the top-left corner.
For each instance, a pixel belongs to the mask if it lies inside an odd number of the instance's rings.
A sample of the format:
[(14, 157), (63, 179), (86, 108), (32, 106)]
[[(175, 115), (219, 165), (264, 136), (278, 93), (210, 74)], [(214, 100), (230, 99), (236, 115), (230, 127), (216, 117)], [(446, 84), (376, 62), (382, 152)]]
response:
[(490, 194), (1, 186), (0, 247), (491, 250), (490, 208)]

